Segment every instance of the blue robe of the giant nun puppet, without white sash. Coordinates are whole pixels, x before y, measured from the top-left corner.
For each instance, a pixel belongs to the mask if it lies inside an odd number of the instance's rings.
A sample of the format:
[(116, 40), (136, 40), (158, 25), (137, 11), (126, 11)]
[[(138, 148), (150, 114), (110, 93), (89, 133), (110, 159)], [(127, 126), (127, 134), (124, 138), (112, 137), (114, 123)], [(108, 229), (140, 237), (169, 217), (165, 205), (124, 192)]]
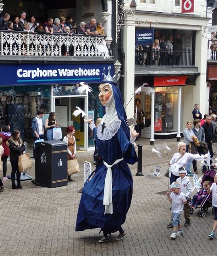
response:
[(119, 130), (111, 139), (99, 140), (96, 136), (96, 143), (98, 155), (106, 163), (111, 165), (115, 160), (124, 158), (112, 167), (113, 213), (104, 214), (103, 195), (107, 168), (101, 163), (84, 185), (76, 231), (100, 228), (105, 233), (111, 233), (118, 231), (120, 225), (125, 223), (133, 192), (132, 174), (127, 163), (133, 164), (138, 158), (134, 145), (130, 143), (129, 128), (125, 121), (121, 122)]

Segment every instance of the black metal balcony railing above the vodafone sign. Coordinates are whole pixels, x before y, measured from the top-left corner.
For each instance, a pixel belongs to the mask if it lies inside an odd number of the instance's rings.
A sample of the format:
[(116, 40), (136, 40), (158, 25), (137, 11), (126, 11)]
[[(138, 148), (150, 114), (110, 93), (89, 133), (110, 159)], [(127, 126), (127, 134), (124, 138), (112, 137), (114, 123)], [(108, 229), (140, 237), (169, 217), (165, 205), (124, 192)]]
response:
[(135, 66), (192, 66), (192, 49), (136, 49)]

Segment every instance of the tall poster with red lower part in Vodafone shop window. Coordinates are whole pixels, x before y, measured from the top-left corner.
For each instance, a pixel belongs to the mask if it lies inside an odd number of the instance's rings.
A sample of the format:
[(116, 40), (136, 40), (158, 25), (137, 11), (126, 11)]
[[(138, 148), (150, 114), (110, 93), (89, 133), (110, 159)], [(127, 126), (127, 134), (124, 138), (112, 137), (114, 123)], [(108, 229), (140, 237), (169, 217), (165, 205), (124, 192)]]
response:
[(155, 93), (154, 103), (154, 131), (162, 131), (162, 102), (163, 93)]

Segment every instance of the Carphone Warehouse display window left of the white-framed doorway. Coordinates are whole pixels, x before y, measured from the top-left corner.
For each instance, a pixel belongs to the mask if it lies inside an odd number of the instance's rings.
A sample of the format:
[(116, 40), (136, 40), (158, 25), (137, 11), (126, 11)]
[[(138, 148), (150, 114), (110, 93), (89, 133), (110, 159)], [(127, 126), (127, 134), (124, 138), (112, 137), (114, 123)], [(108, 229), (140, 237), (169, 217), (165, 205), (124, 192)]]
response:
[(0, 125), (10, 125), (10, 131), (19, 130), (32, 153), (32, 120), (38, 109), (50, 110), (50, 86), (0, 87)]

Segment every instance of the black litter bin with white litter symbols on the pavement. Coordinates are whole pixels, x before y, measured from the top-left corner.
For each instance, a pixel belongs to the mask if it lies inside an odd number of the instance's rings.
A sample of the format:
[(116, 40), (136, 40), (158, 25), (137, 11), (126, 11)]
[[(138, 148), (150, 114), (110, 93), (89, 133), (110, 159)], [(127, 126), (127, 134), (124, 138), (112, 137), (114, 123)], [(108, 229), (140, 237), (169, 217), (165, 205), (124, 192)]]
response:
[(55, 188), (67, 185), (67, 143), (46, 141), (36, 143), (35, 184)]

